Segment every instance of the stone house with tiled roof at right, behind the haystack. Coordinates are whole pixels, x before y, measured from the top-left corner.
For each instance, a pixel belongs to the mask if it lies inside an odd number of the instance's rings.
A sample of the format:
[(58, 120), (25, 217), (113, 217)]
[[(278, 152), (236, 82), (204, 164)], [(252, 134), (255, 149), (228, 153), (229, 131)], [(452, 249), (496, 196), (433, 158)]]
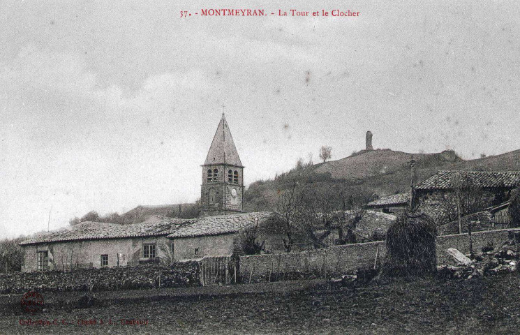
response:
[(520, 186), (520, 171), (439, 171), (415, 188), (419, 209), (438, 225), (451, 222), (456, 216), (452, 184), (456, 176), (463, 189), (462, 205), (469, 211), (466, 214), (507, 202), (511, 191)]

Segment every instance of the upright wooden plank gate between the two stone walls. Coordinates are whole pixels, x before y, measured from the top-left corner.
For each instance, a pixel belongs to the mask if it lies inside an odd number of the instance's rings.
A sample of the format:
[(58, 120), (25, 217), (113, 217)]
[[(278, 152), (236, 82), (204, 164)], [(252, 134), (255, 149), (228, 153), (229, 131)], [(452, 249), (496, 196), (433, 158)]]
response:
[(205, 256), (199, 264), (202, 286), (237, 283), (238, 265), (230, 255)]

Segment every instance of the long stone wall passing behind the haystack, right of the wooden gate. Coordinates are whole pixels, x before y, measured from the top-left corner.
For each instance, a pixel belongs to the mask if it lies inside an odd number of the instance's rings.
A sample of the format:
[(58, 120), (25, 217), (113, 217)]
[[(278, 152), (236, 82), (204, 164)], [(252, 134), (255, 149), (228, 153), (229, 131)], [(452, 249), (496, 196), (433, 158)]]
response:
[[(473, 249), (480, 251), (491, 242), (501, 246), (508, 239), (510, 230), (490, 230), (472, 234)], [(469, 253), (468, 234), (454, 234), (437, 237), (438, 265), (450, 263), (447, 248), (457, 248), (462, 253)], [(333, 246), (315, 251), (301, 253), (278, 253), (266, 255), (251, 255), (240, 257), (240, 274), (243, 281), (269, 281), (269, 278), (295, 278), (309, 275), (327, 278), (329, 276), (346, 274), (358, 268), (373, 267), (378, 253), (378, 264), (385, 256), (385, 241), (347, 244)], [(251, 276), (251, 272), (253, 275)]]

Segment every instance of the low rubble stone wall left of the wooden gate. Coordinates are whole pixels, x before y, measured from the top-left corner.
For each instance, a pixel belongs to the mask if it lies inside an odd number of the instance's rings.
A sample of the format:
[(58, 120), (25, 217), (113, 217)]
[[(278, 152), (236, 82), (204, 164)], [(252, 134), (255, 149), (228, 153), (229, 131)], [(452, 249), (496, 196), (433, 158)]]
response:
[(121, 290), (200, 285), (198, 262), (0, 274), (0, 293)]

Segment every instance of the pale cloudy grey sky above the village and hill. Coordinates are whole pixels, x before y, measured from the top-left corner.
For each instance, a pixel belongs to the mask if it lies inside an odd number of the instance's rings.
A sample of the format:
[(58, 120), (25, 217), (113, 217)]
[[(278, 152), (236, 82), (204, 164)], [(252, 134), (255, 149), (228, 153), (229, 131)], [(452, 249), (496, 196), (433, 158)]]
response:
[(0, 2), (0, 237), (47, 229), (51, 207), (57, 229), (193, 202), (222, 105), (246, 184), (368, 130), (376, 148), (520, 149), (516, 1), (222, 1), (360, 16), (187, 19), (209, 7)]

